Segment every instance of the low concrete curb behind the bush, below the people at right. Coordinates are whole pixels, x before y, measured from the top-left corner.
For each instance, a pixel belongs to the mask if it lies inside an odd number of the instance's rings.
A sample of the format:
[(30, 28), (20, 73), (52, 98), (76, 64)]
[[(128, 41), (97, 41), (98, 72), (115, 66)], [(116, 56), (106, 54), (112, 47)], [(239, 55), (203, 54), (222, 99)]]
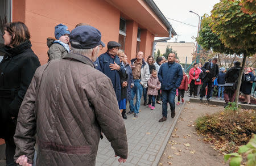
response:
[[(201, 101), (199, 98), (189, 98), (189, 101), (196, 102), (196, 103), (208, 103), (212, 105), (221, 105), (221, 106), (224, 106), (225, 104), (225, 101), (218, 101), (218, 100), (207, 101), (204, 99)], [(256, 105), (241, 104), (241, 103), (238, 103), (238, 105), (240, 105), (242, 109), (256, 109)]]

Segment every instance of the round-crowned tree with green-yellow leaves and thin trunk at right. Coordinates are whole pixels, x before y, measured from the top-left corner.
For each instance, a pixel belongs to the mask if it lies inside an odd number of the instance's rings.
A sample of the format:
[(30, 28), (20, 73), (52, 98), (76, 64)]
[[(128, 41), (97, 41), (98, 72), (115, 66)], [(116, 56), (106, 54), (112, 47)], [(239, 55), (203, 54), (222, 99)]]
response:
[(238, 78), (236, 103), (238, 103), (243, 67), (247, 56), (256, 53), (256, 14), (241, 11), (240, 1), (221, 0), (211, 11), (212, 31), (220, 36), (221, 42), (234, 53), (242, 53), (243, 62)]

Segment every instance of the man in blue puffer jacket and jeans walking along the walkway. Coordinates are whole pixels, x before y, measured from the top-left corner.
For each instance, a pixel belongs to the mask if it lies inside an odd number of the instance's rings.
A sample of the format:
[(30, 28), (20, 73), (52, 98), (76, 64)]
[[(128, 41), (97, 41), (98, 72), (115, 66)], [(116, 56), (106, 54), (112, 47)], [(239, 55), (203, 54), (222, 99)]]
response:
[(163, 95), (162, 113), (163, 117), (159, 122), (167, 119), (167, 103), (171, 106), (171, 117), (175, 116), (175, 94), (183, 78), (182, 68), (179, 63), (175, 63), (175, 54), (168, 55), (168, 63), (163, 63), (158, 71), (158, 79), (161, 82)]

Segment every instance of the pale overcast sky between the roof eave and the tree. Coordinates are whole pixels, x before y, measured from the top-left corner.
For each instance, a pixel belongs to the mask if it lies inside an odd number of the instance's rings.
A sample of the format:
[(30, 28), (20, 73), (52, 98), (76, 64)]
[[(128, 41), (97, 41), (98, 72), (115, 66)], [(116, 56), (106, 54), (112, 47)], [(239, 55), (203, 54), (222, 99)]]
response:
[[(219, 0), (154, 0), (160, 11), (166, 16), (166, 18), (175, 19), (179, 22), (184, 22), (187, 24), (194, 25), (185, 25), (174, 20), (167, 19), (172, 28), (174, 28), (177, 36), (172, 37), (171, 42), (195, 42), (195, 39), (192, 37), (197, 36), (197, 27), (199, 23), (199, 16), (189, 12), (189, 10), (196, 12), (197, 14), (203, 16), (204, 14), (210, 15), (210, 11), (213, 6), (220, 2)], [(177, 38), (177, 39), (176, 39)], [(160, 39), (156, 37), (155, 39)]]

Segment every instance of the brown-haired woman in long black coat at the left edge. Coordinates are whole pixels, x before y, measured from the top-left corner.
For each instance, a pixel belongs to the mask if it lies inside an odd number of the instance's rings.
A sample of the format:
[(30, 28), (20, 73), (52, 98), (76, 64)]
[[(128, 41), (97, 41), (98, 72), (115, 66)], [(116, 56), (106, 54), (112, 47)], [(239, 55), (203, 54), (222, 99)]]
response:
[(31, 49), (30, 32), (21, 22), (5, 24), (5, 53), (0, 63), (0, 138), (6, 143), (6, 164), (14, 164), (14, 133), (19, 107), (35, 70), (40, 66)]

